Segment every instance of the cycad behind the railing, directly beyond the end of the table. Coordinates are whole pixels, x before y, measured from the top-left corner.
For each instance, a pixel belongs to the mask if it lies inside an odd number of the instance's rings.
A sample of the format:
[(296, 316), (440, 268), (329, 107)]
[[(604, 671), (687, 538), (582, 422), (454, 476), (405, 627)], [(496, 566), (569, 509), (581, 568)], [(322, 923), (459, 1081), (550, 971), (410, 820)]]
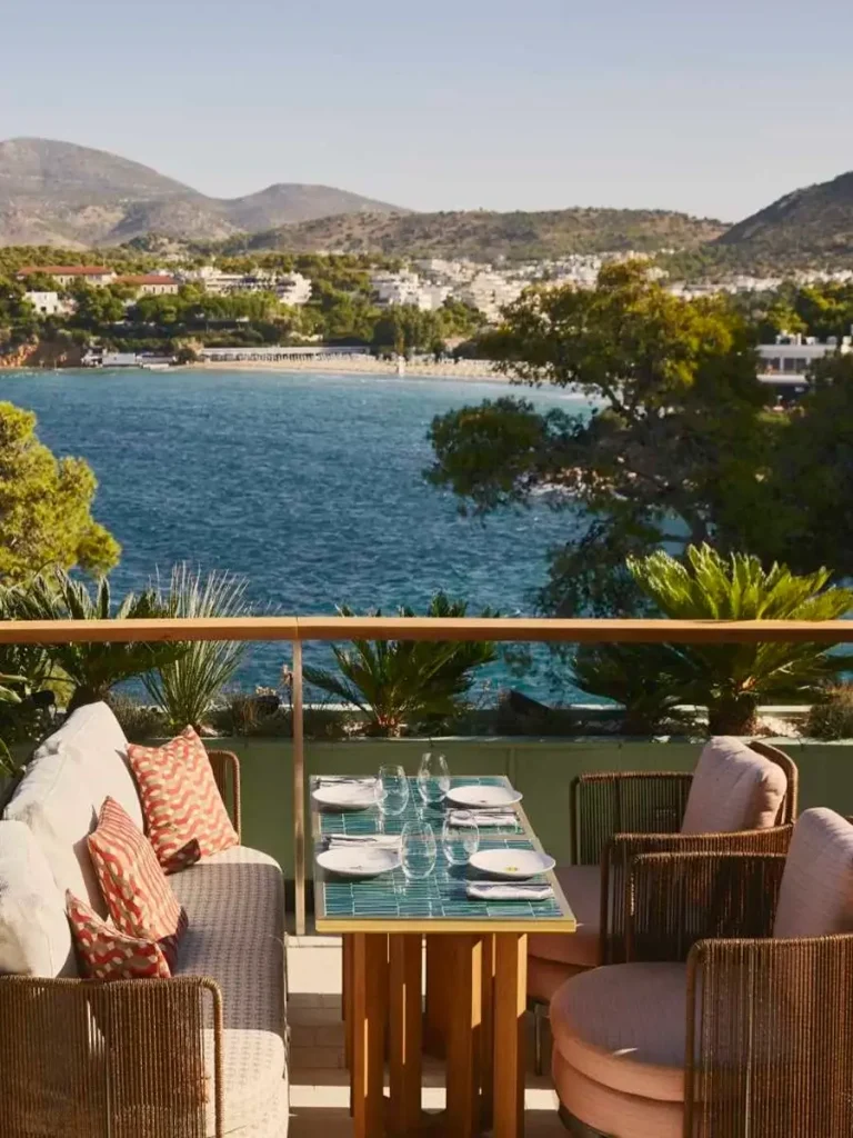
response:
[[(342, 617), (355, 616), (345, 607)], [(464, 617), (467, 605), (437, 593), (428, 617)], [(376, 609), (371, 616), (381, 617)], [(400, 617), (414, 617), (409, 608)], [(485, 612), (483, 616), (494, 616)], [(456, 641), (350, 641), (350, 646), (332, 648), (339, 675), (324, 668), (306, 667), (305, 678), (342, 702), (357, 707), (367, 717), (374, 735), (399, 735), (405, 725), (440, 721), (462, 710), (474, 670), (497, 659), (488, 642)]]

